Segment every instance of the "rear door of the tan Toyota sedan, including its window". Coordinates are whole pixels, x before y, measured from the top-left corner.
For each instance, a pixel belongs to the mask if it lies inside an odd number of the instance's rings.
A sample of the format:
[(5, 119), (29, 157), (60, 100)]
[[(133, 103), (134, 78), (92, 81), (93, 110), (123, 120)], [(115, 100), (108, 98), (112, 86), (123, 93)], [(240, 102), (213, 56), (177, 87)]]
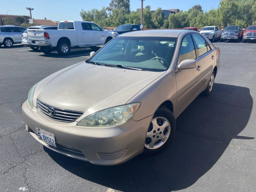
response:
[(212, 74), (215, 54), (209, 44), (201, 35), (193, 34), (192, 37), (194, 38), (198, 52), (197, 61), (201, 63), (202, 79), (200, 80), (199, 84), (200, 89), (202, 90), (206, 86), (206, 84), (208, 84), (208, 81)]

